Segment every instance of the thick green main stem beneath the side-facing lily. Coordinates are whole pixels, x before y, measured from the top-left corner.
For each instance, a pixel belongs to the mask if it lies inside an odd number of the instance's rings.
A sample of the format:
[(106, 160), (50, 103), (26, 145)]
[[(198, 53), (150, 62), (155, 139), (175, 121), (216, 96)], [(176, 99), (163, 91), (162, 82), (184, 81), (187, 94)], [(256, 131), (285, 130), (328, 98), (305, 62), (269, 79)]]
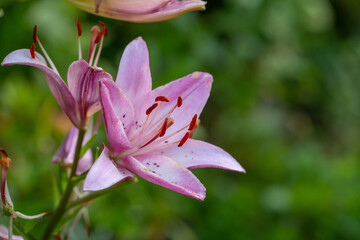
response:
[(54, 214), (52, 214), (50, 222), (46, 226), (44, 233), (41, 236), (42, 240), (47, 240), (51, 237), (51, 234), (54, 231), (54, 229), (56, 228), (56, 225), (58, 224), (58, 222), (60, 221), (60, 219), (62, 218), (62, 216), (65, 213), (66, 205), (70, 199), (71, 193), (73, 192), (73, 188), (75, 186), (72, 178), (75, 176), (76, 168), (79, 163), (81, 145), (82, 145), (82, 142), (84, 139), (84, 135), (85, 135), (85, 129), (79, 129), (79, 135), (78, 135), (78, 139), (77, 139), (77, 143), (76, 143), (76, 150), (75, 150), (75, 155), (74, 155), (74, 162), (73, 162), (73, 165), (71, 168), (70, 176), (68, 178), (68, 184), (66, 186), (66, 190), (60, 200), (59, 205), (55, 209)]

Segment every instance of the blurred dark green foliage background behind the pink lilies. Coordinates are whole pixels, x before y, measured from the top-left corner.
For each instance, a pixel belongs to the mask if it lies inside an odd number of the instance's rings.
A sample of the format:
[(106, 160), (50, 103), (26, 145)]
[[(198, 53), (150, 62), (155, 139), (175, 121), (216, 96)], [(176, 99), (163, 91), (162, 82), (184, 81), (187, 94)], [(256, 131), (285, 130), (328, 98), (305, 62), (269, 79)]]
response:
[[(357, 0), (222, 0), (133, 24), (66, 1), (1, 0), (0, 59), (29, 48), (37, 24), (66, 76), (80, 17), (85, 54), (89, 28), (108, 26), (99, 65), (113, 76), (137, 36), (148, 44), (154, 87), (213, 74), (196, 137), (227, 150), (247, 173), (194, 170), (207, 188), (204, 202), (139, 179), (89, 206), (91, 239), (360, 239), (359, 11)], [(0, 78), (0, 146), (13, 159), (16, 210), (48, 211), (57, 171), (50, 160), (70, 123), (41, 71), (1, 67)], [(102, 132), (96, 145), (104, 139)], [(71, 239), (86, 239), (83, 224)]]

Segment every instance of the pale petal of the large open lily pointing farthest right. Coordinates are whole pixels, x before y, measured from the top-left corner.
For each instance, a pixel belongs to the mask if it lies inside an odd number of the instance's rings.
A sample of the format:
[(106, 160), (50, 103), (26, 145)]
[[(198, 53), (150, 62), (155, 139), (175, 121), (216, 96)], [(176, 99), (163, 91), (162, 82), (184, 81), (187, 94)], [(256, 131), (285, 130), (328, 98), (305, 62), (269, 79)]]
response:
[(217, 146), (199, 140), (189, 139), (182, 147), (171, 145), (152, 151), (150, 154), (167, 156), (188, 169), (211, 167), (245, 173), (230, 154)]

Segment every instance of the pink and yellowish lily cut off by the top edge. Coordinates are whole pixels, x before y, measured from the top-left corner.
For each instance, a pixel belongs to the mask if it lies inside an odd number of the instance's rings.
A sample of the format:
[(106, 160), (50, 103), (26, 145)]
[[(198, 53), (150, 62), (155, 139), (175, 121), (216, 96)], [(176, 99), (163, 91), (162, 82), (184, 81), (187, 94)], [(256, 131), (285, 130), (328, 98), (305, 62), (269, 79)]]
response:
[(200, 0), (68, 0), (84, 11), (129, 22), (158, 22), (204, 10)]

